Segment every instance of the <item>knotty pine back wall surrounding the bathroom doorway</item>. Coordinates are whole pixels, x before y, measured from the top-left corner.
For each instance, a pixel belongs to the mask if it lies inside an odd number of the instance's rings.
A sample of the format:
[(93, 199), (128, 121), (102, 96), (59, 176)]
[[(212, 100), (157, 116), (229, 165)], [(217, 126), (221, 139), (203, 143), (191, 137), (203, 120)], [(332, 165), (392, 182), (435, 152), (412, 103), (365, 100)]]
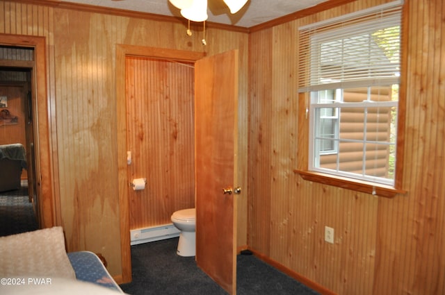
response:
[[(44, 3), (44, 2), (43, 2)], [(74, 6), (73, 6), (74, 7)], [(207, 47), (201, 44), (202, 28), (186, 22), (107, 15), (99, 12), (44, 6), (29, 1), (0, 0), (0, 33), (42, 36), (46, 40), (46, 78), (55, 224), (63, 226), (68, 251), (102, 253), (110, 273), (120, 278), (120, 217), (118, 198), (117, 108), (115, 92), (117, 44), (205, 52), (207, 55), (238, 49), (240, 53), (240, 137), (245, 150), (238, 159), (247, 173), (248, 138), (248, 34), (206, 30)], [(1, 43), (1, 40), (0, 40)], [(38, 74), (42, 74), (41, 72)], [(42, 109), (42, 110), (45, 110)], [(124, 139), (125, 140), (125, 139)], [(42, 156), (42, 155), (41, 155)], [(45, 155), (46, 156), (46, 155)], [(245, 198), (238, 208), (247, 210)], [(179, 203), (177, 203), (179, 207)], [(238, 239), (247, 244), (247, 216), (241, 214)], [(242, 236), (244, 234), (244, 237)]]

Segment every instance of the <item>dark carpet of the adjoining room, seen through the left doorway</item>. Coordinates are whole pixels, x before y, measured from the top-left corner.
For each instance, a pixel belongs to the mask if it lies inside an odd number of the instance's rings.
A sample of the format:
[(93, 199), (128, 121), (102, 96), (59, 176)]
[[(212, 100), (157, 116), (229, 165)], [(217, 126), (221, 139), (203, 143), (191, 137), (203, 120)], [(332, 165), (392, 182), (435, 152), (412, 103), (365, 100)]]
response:
[(0, 237), (37, 230), (28, 187), (0, 193)]

